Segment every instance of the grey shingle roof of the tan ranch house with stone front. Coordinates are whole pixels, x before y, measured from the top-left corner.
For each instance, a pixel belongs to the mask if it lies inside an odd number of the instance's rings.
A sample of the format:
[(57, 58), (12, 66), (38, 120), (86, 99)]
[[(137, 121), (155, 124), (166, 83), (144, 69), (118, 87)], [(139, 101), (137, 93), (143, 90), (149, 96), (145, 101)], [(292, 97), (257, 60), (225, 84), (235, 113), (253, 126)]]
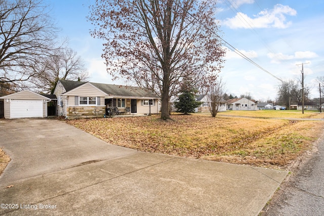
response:
[[(60, 80), (66, 92), (71, 91), (80, 85), (86, 83), (81, 81), (68, 81)], [(105, 83), (96, 83), (90, 82), (96, 88), (100, 89), (104, 93), (110, 96), (125, 96), (125, 97), (141, 97), (141, 98), (160, 98), (152, 91), (149, 91), (144, 88), (131, 87), (126, 85), (115, 85), (115, 84), (105, 84)]]

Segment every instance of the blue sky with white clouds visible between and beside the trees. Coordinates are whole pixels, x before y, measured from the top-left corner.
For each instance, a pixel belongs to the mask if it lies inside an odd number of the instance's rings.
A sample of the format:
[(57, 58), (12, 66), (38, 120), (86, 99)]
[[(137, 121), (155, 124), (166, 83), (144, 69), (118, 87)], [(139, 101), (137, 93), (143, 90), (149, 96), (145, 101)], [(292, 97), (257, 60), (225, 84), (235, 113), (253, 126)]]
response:
[[(90, 81), (128, 84), (111, 79), (101, 58), (103, 41), (89, 33), (93, 26), (86, 17), (93, 0), (44, 2), (60, 28), (58, 37), (69, 39), (69, 47), (84, 60)], [(311, 88), (310, 98), (318, 98), (316, 78), (324, 75), (323, 12), (321, 0), (218, 0), (215, 18), (220, 21), (220, 36), (267, 71), (228, 50), (220, 73), (226, 93), (275, 100), (280, 80), (300, 78), (302, 65), (298, 64), (308, 63), (304, 83)]]

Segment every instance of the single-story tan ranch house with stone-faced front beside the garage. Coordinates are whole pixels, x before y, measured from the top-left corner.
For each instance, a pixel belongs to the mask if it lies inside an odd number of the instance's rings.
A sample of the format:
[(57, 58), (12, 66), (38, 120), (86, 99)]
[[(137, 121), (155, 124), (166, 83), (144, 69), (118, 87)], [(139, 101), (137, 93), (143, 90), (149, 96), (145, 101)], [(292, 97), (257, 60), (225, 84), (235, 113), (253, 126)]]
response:
[(66, 118), (103, 117), (109, 107), (117, 107), (123, 114), (159, 112), (159, 97), (138, 87), (59, 80), (54, 94), (57, 113)]

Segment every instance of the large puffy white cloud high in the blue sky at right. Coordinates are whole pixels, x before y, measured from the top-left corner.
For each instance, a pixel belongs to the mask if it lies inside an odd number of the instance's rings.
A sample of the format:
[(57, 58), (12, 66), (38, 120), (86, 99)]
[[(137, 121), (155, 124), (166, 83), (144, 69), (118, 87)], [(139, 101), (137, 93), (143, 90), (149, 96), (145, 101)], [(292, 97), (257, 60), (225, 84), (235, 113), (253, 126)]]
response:
[(296, 10), (289, 6), (277, 4), (271, 10), (264, 10), (249, 17), (244, 13), (238, 12), (235, 17), (227, 18), (222, 23), (232, 29), (235, 28), (287, 28), (291, 22), (286, 21), (286, 15), (295, 16)]

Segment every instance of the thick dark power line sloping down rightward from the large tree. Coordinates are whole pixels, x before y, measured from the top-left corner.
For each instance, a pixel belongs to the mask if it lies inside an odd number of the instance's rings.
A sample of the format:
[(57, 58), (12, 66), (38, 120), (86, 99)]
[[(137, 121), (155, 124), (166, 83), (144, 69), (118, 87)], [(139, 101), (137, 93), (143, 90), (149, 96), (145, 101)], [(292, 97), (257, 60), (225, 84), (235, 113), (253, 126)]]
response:
[[(161, 3), (166, 4), (163, 2), (163, 0), (160, 0)], [(213, 34), (215, 34), (218, 38), (220, 38), (225, 44), (225, 47), (227, 47), (228, 49), (230, 49), (231, 51), (235, 52), (237, 55), (239, 55), (240, 57), (244, 58), (245, 60), (249, 61), (251, 64), (255, 65), (256, 67), (258, 67), (259, 69), (263, 70), (264, 72), (268, 73), (269, 75), (271, 75), (272, 77), (278, 79), (279, 81), (283, 82), (280, 78), (276, 77), (275, 75), (273, 75), (272, 73), (270, 73), (269, 71), (267, 71), (266, 69), (264, 69), (263, 67), (261, 67), (260, 65), (258, 65), (256, 62), (254, 62), (253, 60), (251, 60), (249, 57), (247, 57), (246, 55), (242, 54), (240, 51), (238, 51), (236, 48), (234, 48), (232, 45), (229, 44), (229, 42), (227, 42), (225, 39), (223, 39), (222, 37), (220, 37), (215, 31), (213, 31), (212, 29), (210, 29), (208, 26), (206, 26), (204, 23), (201, 23), (200, 20), (198, 20), (196, 17), (194, 17), (189, 11), (187, 11), (186, 9), (184, 9), (182, 6), (180, 6), (178, 3), (174, 2), (173, 0), (171, 0), (175, 5), (177, 5), (179, 8), (181, 8), (183, 11), (185, 11), (187, 14), (189, 14), (194, 20), (196, 20), (197, 22), (199, 22), (201, 25), (203, 25), (207, 30), (209, 30), (210, 32), (212, 32)], [(176, 11), (173, 7), (171, 7), (172, 10)]]

